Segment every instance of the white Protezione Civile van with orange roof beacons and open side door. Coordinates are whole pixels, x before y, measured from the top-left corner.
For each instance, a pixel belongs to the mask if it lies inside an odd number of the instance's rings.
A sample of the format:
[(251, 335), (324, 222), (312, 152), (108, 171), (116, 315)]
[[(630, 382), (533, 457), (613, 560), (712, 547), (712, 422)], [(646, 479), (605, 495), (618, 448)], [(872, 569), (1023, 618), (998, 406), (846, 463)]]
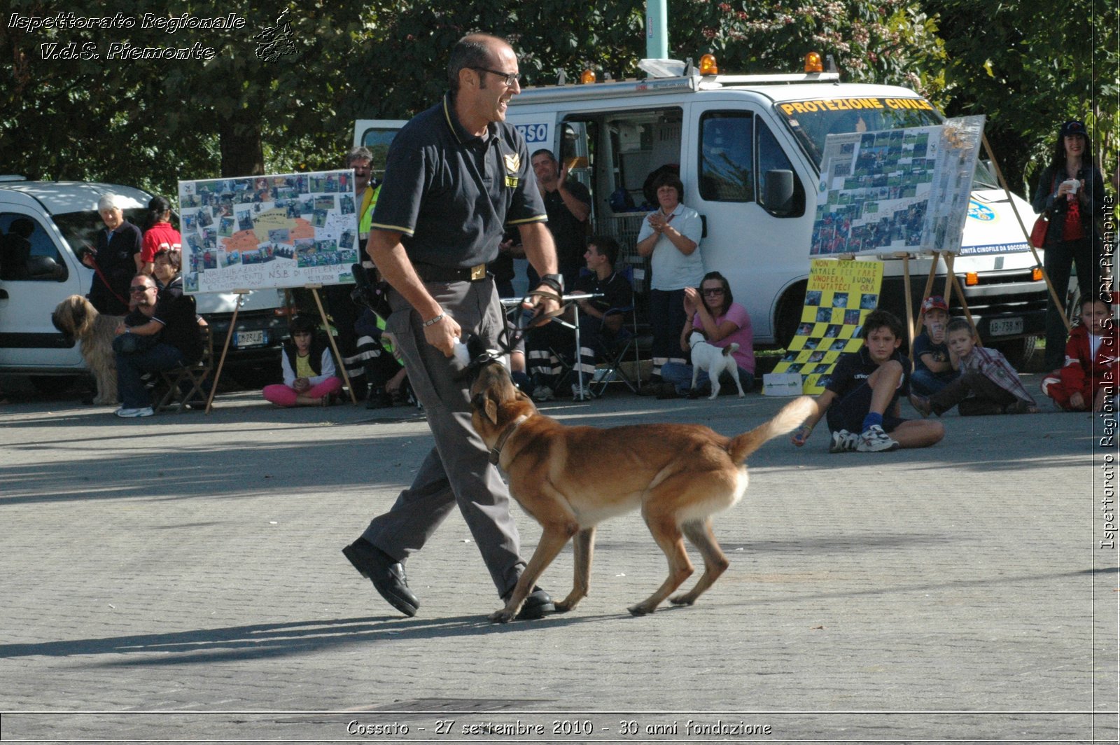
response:
[[(924, 127), (943, 118), (908, 89), (841, 83), (836, 73), (700, 75), (683, 64), (680, 72), (526, 87), (511, 101), (507, 121), (530, 152), (552, 150), (590, 188), (592, 231), (618, 239), (625, 260), (635, 264), (640, 298), (648, 289), (648, 262), (634, 243), (645, 211), (623, 205), (655, 204), (643, 189), (650, 175), (679, 168), (683, 202), (703, 218), (706, 270), (728, 278), (736, 301), (750, 314), (757, 343), (785, 345), (804, 301), (825, 136)], [(357, 122), (355, 133), (390, 128)], [(1029, 204), (1015, 199), (1030, 220)], [(911, 261), (914, 294), (922, 292), (931, 261)], [(1016, 356), (1034, 348), (1046, 308), (1045, 281), (1035, 267), (1005, 193), (979, 168), (954, 271), (986, 344)], [(880, 306), (899, 315), (902, 273), (900, 260), (886, 261)], [(943, 281), (942, 266), (939, 292)], [(920, 300), (912, 299), (915, 308)]]

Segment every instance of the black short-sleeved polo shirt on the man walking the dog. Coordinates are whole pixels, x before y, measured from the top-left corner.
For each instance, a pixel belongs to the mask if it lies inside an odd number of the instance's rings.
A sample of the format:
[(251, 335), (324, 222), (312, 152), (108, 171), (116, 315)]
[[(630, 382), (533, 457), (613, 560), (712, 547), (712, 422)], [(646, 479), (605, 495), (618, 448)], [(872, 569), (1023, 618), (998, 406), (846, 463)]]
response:
[(416, 115), (389, 148), (371, 227), (403, 233), (412, 262), (465, 268), (494, 260), (505, 225), (544, 222), (524, 139), (488, 130), (467, 133), (450, 93)]

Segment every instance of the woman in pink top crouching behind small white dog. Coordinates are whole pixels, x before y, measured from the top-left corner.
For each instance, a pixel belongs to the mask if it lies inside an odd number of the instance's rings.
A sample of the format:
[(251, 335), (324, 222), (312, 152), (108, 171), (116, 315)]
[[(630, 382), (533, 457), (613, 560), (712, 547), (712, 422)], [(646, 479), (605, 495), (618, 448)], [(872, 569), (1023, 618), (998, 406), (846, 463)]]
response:
[[(703, 276), (700, 289), (684, 288), (684, 313), (689, 320), (681, 329), (681, 350), (689, 353), (689, 337), (693, 332), (704, 335), (713, 346), (726, 347), (738, 344), (739, 348), (731, 353), (739, 367), (739, 382), (743, 390), (749, 391), (755, 385), (755, 347), (754, 330), (750, 327), (750, 316), (747, 309), (731, 295), (731, 286), (727, 278), (718, 271)], [(661, 375), (670, 389), (662, 392), (665, 398), (687, 392), (692, 387), (692, 365), (668, 363), (661, 369)], [(730, 382), (730, 381), (729, 381)], [(701, 370), (697, 378), (697, 391), (710, 388), (708, 372)], [(731, 388), (734, 389), (734, 385)]]

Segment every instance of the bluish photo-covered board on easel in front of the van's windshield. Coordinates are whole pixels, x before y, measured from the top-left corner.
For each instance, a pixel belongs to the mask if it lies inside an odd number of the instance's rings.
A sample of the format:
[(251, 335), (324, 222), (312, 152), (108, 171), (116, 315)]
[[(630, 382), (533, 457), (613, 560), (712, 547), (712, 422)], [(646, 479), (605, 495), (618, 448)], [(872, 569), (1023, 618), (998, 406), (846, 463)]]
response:
[(829, 134), (810, 255), (958, 253), (983, 117)]

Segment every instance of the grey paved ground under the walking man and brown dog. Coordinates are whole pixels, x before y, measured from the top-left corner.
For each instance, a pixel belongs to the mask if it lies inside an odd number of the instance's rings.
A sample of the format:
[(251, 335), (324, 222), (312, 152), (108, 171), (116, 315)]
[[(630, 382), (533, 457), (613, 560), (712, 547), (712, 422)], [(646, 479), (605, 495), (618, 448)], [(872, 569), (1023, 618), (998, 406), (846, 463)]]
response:
[[(734, 434), (782, 402), (614, 392), (547, 412)], [(601, 527), (577, 611), (494, 626), (458, 515), (409, 564), (416, 618), (339, 553), (429, 447), (413, 411), (235, 393), (122, 421), (17, 397), (0, 739), (1116, 742), (1116, 447), (1089, 415), (943, 421), (925, 451), (764, 447), (717, 519), (731, 568), (694, 607), (625, 612), (665, 570), (628, 515)], [(566, 551), (544, 586), (570, 571)]]

